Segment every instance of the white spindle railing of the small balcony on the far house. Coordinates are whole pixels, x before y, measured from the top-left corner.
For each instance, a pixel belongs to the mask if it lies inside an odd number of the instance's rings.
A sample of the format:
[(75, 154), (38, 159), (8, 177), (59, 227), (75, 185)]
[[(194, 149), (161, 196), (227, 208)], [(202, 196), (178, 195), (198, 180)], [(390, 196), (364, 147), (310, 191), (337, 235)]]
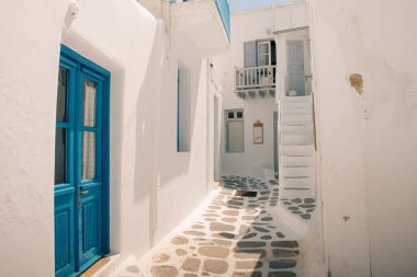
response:
[(275, 88), (277, 66), (236, 69), (236, 91)]

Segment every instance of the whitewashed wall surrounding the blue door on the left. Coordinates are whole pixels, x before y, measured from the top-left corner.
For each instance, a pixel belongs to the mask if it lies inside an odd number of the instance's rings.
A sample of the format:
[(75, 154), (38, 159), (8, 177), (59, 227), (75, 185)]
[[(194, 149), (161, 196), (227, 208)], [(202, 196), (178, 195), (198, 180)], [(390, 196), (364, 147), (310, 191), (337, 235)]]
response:
[[(136, 1), (78, 1), (72, 24), (69, 3), (5, 1), (0, 9), (1, 276), (54, 276), (60, 43), (112, 72), (112, 252), (140, 256), (207, 189), (206, 62)], [(179, 59), (193, 70), (199, 122), (188, 154), (176, 152)]]

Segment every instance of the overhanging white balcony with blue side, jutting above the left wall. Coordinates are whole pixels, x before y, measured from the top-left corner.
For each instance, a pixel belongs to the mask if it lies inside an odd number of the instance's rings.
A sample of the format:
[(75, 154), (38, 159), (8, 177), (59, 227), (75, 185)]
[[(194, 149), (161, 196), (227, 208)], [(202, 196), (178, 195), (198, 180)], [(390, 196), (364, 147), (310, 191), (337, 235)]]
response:
[(139, 0), (172, 32), (185, 35), (203, 55), (224, 51), (230, 44), (230, 11), (227, 0)]

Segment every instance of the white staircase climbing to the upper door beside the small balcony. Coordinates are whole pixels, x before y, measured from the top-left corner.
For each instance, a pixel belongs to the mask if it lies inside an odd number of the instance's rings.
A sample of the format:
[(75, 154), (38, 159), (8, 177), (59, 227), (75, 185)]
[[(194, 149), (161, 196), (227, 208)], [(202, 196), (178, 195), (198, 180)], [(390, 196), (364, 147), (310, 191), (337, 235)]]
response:
[(315, 199), (312, 96), (283, 97), (280, 116), (280, 199)]

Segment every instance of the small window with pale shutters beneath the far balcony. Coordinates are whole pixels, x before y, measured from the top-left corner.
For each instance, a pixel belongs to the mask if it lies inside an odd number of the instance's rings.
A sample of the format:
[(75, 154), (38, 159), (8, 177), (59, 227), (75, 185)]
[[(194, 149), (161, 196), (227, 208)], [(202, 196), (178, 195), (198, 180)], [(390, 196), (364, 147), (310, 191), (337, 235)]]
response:
[(227, 111), (226, 152), (241, 153), (245, 150), (244, 111)]

